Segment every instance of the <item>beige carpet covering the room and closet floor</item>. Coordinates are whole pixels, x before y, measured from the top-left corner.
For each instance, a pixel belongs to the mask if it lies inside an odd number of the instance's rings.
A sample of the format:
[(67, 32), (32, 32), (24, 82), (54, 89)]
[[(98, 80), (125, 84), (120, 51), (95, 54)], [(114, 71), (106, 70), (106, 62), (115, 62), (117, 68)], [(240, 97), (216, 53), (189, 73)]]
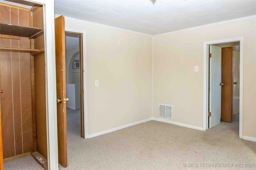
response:
[[(90, 139), (80, 137), (80, 118), (74, 117), (67, 125), (68, 167), (59, 166), (61, 170), (162, 170), (196, 166), (209, 169), (203, 166), (232, 164), (232, 168), (221, 169), (244, 169), (235, 166), (256, 163), (256, 142), (238, 137), (239, 115), (234, 116), (233, 123), (221, 122), (207, 131), (148, 121)], [(4, 168), (41, 169), (30, 157), (8, 162)], [(188, 164), (194, 168), (188, 168)]]

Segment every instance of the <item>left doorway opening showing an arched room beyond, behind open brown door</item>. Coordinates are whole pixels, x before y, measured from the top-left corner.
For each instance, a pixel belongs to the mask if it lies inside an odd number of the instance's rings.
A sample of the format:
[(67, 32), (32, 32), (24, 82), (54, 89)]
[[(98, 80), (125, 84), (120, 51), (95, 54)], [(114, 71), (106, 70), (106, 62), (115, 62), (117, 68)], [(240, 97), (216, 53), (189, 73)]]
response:
[(82, 33), (65, 31), (67, 133), (85, 138), (82, 39)]

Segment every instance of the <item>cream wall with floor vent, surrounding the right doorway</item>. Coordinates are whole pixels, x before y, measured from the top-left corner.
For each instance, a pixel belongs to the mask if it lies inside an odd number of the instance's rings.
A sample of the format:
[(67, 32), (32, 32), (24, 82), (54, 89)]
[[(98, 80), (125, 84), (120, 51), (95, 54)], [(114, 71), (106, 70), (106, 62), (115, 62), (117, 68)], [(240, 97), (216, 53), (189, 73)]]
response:
[(243, 135), (256, 137), (255, 17), (154, 36), (153, 116), (170, 104), (173, 121), (203, 127), (203, 44), (235, 37), (244, 37)]

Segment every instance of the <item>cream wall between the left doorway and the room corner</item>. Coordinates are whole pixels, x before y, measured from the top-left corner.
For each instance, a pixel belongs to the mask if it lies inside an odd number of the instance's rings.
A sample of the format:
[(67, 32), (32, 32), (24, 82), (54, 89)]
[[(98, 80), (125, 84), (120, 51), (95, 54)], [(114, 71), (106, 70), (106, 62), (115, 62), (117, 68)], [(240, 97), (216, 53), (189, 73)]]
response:
[(88, 135), (152, 117), (152, 37), (65, 22), (86, 31)]

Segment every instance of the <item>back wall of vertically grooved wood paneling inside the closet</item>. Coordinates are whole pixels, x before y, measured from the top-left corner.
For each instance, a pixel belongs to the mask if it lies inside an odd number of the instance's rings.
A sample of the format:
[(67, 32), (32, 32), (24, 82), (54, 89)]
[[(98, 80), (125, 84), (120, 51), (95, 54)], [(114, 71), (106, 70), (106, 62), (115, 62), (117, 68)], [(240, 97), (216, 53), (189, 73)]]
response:
[[(0, 14), (1, 23), (30, 24), (28, 10), (0, 5)], [(12, 38), (1, 36), (1, 47), (30, 48), (28, 37)], [(10, 158), (33, 151), (30, 53), (1, 49), (0, 70), (3, 158)]]

